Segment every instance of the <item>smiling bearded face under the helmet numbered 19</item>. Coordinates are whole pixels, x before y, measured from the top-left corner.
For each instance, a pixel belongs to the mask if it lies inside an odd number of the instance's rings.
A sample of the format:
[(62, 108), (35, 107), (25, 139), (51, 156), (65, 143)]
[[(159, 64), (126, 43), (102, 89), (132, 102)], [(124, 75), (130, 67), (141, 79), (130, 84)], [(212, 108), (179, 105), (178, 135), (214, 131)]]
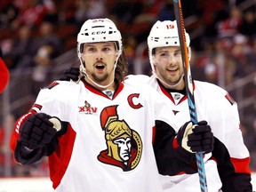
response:
[(180, 46), (157, 47), (154, 59), (156, 75), (169, 85), (175, 85), (183, 77)]

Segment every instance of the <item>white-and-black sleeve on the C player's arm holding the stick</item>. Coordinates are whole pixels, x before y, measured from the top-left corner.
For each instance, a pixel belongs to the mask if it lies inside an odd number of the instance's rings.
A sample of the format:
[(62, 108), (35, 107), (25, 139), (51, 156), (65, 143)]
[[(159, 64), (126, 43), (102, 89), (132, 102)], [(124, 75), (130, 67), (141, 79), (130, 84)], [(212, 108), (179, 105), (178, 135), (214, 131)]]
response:
[[(172, 110), (168, 108), (158, 92), (154, 98), (156, 126), (153, 134), (153, 148), (158, 172), (162, 175), (192, 174), (196, 172), (196, 156), (180, 147), (176, 142), (177, 132)], [(185, 124), (186, 122), (184, 122)]]

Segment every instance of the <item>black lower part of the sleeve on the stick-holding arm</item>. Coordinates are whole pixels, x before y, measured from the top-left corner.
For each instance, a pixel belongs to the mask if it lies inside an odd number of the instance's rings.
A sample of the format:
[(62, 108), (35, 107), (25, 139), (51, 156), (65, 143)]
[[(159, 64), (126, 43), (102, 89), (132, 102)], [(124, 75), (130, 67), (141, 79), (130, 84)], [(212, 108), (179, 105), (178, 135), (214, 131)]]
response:
[(196, 173), (196, 156), (186, 149), (175, 146), (176, 133), (169, 124), (156, 121), (154, 152), (158, 172), (174, 176), (181, 173)]

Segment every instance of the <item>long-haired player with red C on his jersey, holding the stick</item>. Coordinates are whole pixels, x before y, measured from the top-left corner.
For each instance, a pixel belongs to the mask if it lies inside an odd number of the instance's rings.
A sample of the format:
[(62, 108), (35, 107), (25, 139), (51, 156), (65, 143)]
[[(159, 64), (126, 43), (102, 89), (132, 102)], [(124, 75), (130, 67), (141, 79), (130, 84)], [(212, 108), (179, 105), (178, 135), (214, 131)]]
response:
[[(15, 124), (10, 142), (15, 160), (33, 164), (48, 156), (56, 191), (161, 192), (153, 127), (172, 129), (164, 120), (172, 122), (173, 115), (165, 115), (151, 87), (123, 83), (127, 63), (111, 20), (86, 20), (77, 42), (79, 80), (56, 81), (39, 92)], [(204, 123), (188, 121), (177, 140), (177, 151), (212, 151), (211, 127)]]

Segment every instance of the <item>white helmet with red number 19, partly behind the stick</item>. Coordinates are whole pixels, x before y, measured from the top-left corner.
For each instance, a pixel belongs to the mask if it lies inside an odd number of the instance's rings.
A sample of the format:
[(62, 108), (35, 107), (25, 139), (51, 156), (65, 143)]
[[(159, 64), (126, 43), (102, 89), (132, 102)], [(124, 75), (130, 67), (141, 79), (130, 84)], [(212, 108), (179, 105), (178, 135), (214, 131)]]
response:
[[(187, 47), (190, 45), (190, 38), (185, 31)], [(177, 21), (174, 20), (157, 20), (154, 26), (151, 28), (148, 36), (148, 55), (151, 64), (151, 68), (155, 73), (153, 64), (154, 48), (164, 46), (180, 46), (179, 32), (177, 27)], [(189, 49), (188, 49), (189, 50)]]

